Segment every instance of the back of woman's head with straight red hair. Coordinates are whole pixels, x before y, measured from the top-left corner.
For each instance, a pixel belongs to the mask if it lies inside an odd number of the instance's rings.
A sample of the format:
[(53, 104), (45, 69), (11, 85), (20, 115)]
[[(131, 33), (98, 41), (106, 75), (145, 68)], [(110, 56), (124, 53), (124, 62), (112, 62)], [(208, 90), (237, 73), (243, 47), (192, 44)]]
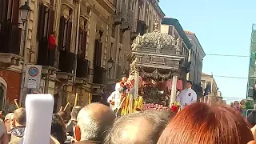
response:
[(170, 121), (158, 144), (247, 144), (253, 140), (250, 127), (237, 110), (194, 103)]

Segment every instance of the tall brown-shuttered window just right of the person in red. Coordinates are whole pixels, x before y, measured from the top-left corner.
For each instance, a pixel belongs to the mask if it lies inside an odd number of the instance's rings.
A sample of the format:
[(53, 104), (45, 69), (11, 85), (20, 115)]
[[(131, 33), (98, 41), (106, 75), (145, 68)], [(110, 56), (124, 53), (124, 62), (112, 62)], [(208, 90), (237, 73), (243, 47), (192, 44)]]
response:
[(72, 22), (67, 20), (64, 16), (60, 19), (58, 46), (61, 50), (70, 51), (70, 41), (72, 32)]

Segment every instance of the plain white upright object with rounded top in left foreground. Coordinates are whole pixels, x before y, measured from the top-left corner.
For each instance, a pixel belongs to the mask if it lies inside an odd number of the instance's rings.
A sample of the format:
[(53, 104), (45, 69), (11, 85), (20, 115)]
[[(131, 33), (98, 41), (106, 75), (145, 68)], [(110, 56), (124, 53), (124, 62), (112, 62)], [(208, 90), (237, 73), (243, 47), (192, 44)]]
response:
[(50, 128), (54, 110), (51, 94), (26, 95), (26, 130), (23, 144), (50, 143)]

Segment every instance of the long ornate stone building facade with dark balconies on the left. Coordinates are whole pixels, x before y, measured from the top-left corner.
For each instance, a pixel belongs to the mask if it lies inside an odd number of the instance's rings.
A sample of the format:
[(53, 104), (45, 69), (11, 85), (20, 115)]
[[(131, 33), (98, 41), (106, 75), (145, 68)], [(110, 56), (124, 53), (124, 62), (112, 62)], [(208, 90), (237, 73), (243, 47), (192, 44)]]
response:
[[(158, 0), (29, 0), (31, 12), (23, 26), (18, 7), (25, 0), (13, 5), (10, 1), (14, 0), (0, 2), (0, 11), (5, 12), (0, 14), (0, 37), (10, 36), (5, 39), (8, 45), (0, 48), (2, 107), (19, 98), (23, 103), (25, 95), (33, 93), (21, 88), (26, 64), (42, 65), (37, 91), (54, 95), (54, 110), (67, 102), (74, 106), (75, 94), (79, 105), (99, 101), (106, 84), (129, 73), (126, 56), (132, 40), (152, 31), (154, 22), (164, 17)], [(14, 13), (8, 15), (8, 10)], [(50, 38), (57, 46), (50, 45)], [(111, 58), (114, 65), (109, 69)]]

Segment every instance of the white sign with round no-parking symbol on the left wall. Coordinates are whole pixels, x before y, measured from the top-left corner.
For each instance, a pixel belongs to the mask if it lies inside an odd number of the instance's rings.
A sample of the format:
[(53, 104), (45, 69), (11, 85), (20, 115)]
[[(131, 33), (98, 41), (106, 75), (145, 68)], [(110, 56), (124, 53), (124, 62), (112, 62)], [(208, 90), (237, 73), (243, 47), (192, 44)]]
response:
[(28, 89), (40, 89), (42, 66), (26, 65), (25, 87)]

